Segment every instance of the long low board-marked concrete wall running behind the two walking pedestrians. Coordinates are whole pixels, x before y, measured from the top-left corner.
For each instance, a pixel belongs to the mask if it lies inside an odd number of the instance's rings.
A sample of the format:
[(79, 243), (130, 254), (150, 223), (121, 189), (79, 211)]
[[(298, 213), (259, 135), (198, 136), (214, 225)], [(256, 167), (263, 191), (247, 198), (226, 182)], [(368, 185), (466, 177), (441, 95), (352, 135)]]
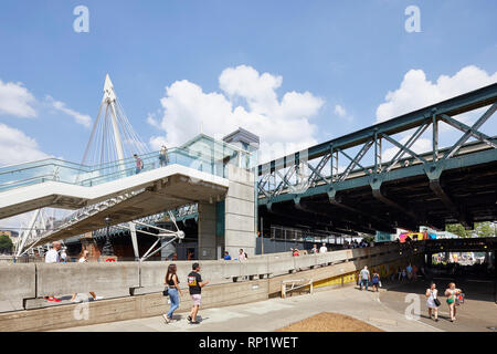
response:
[[(416, 261), (421, 259), (421, 247), (416, 252), (400, 253), (399, 247), (384, 246), (303, 257), (290, 257), (286, 252), (254, 257), (245, 262), (201, 261), (202, 278), (211, 280), (211, 284), (202, 291), (202, 308), (265, 300), (281, 291), (283, 280), (311, 279), (313, 282), (319, 282), (357, 272), (363, 266), (374, 267), (400, 259)], [(175, 263), (178, 266), (180, 285), (184, 289), (179, 311), (188, 311), (191, 300), (186, 289), (186, 277), (192, 262)], [(22, 299), (59, 292), (98, 293), (116, 287), (129, 287), (134, 295), (81, 304), (51, 304), (45, 309), (40, 305), (39, 309), (28, 306), (33, 310), (0, 313), (0, 331), (43, 331), (159, 315), (168, 308), (167, 300), (161, 295), (168, 264), (169, 262), (118, 262), (1, 266), (0, 295), (3, 298), (0, 299), (18, 296), (22, 302)], [(265, 278), (267, 274), (271, 277)], [(245, 277), (253, 280), (243, 281)], [(258, 279), (260, 277), (265, 279)], [(237, 282), (233, 282), (233, 278)], [(19, 280), (12, 282), (14, 279)]]

